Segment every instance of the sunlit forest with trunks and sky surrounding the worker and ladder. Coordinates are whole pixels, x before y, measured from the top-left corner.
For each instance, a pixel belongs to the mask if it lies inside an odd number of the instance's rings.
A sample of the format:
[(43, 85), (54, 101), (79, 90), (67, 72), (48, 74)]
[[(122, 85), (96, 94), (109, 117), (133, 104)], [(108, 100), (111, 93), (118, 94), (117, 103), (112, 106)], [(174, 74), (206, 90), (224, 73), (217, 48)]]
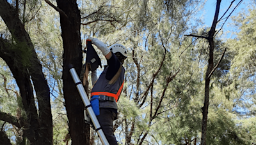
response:
[(88, 36), (129, 53), (119, 144), (256, 144), (256, 1), (205, 3), (0, 0), (0, 144), (100, 144), (67, 67)]

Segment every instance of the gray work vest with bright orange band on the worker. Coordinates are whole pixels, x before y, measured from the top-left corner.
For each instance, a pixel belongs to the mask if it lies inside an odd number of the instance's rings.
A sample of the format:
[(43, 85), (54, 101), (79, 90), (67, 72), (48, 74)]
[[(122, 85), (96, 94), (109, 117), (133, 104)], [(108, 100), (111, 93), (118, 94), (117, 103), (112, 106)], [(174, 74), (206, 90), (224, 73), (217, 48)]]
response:
[[(92, 88), (91, 95), (106, 95), (109, 97), (115, 96), (116, 101), (119, 99), (120, 94), (122, 92), (122, 87), (124, 83), (124, 67), (122, 67), (122, 71), (118, 79), (113, 84), (109, 84), (108, 79), (106, 79), (106, 73), (108, 71), (108, 67), (104, 69), (104, 71), (100, 74), (99, 79), (95, 83)], [(99, 99), (100, 100), (100, 99)], [(109, 101), (109, 100), (100, 100), (99, 107), (108, 107), (118, 109), (116, 102)]]

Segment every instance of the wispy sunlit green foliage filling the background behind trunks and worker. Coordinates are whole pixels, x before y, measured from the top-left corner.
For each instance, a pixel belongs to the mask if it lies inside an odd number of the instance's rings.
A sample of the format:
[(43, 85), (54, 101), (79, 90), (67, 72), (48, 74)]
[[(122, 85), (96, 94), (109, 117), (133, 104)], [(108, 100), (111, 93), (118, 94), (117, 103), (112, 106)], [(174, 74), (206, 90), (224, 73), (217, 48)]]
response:
[[(82, 17), (83, 46), (85, 39), (93, 36), (108, 46), (122, 43), (128, 50), (125, 85), (115, 121), (118, 142), (139, 144), (147, 135), (142, 144), (198, 144), (209, 50), (207, 41), (195, 41), (184, 34), (201, 35), (209, 29), (200, 25), (202, 20), (193, 17), (204, 1), (86, 0), (77, 3)], [(24, 6), (22, 1), (19, 17), (33, 41), (51, 89), (54, 144), (65, 144), (68, 119), (63, 106), (60, 17), (44, 1), (28, 1)], [(236, 38), (223, 41), (216, 36), (214, 39), (214, 64), (225, 47), (227, 52), (211, 79), (209, 144), (252, 144), (256, 140), (256, 11), (255, 8), (249, 11), (234, 18)], [(15, 43), (3, 20), (0, 20), (0, 33), (12, 42), (13, 51), (20, 52), (13, 57), (24, 58), (22, 63), (29, 66), (31, 53), (23, 43)], [(98, 53), (104, 60), (101, 52)], [(17, 108), (22, 108), (17, 91), (12, 73), (0, 60), (1, 111), (17, 116)], [(26, 117), (22, 110), (21, 115)], [(3, 123), (0, 121), (0, 127)], [(8, 123), (4, 131), (9, 137), (17, 137)], [(127, 142), (129, 137), (131, 141)]]

